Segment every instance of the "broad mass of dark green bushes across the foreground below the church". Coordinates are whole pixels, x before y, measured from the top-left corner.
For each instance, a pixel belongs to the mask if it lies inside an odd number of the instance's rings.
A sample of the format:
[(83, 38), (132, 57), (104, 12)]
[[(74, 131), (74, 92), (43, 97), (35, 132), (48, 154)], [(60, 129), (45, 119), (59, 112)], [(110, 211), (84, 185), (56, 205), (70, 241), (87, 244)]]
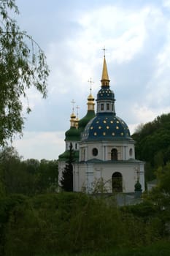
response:
[(149, 245), (164, 236), (151, 203), (117, 208), (104, 197), (73, 192), (17, 195), (14, 202), (1, 201), (1, 207), (8, 206), (7, 215), (0, 208), (4, 256), (99, 253)]

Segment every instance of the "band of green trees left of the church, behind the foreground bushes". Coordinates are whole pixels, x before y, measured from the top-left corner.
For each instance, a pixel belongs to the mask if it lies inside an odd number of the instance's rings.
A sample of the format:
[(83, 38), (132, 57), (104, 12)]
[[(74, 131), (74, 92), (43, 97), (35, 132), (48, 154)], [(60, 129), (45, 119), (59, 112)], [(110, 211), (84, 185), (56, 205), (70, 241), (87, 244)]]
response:
[(0, 195), (6, 192), (35, 195), (58, 187), (58, 161), (22, 161), (15, 148), (0, 151)]

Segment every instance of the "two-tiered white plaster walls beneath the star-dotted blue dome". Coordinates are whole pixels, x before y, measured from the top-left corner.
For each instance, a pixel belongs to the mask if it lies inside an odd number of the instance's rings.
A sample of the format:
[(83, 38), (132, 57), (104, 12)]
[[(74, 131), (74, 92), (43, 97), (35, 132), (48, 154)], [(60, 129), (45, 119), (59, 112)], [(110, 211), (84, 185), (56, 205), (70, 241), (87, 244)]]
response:
[[(97, 148), (97, 156), (93, 156)], [(111, 159), (112, 148), (117, 149), (117, 160)], [(92, 192), (101, 179), (107, 192), (112, 192), (112, 175), (122, 176), (122, 192), (134, 192), (139, 180), (144, 191), (144, 162), (135, 159), (134, 141), (93, 141), (80, 143), (80, 162), (74, 164), (74, 191)]]

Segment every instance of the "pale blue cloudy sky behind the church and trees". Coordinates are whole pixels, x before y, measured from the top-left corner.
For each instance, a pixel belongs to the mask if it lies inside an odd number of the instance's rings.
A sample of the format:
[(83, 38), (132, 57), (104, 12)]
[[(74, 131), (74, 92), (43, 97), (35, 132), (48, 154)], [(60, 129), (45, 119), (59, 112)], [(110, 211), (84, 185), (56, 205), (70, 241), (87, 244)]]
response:
[[(79, 118), (101, 87), (106, 48), (115, 110), (131, 131), (170, 112), (170, 0), (16, 0), (15, 19), (47, 56), (48, 96), (27, 92), (32, 109), (23, 137), (12, 143), (24, 159), (58, 159), (65, 151), (71, 101)], [(76, 110), (74, 111), (77, 112)]]

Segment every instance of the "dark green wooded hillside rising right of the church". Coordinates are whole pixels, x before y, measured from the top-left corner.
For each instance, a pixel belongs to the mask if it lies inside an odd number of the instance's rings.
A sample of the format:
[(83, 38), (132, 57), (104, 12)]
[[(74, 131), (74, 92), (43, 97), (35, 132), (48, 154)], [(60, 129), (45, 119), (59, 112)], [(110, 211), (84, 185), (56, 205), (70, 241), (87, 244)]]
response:
[(144, 124), (132, 137), (136, 140), (136, 158), (146, 162), (145, 179), (151, 181), (155, 170), (170, 161), (170, 114)]

